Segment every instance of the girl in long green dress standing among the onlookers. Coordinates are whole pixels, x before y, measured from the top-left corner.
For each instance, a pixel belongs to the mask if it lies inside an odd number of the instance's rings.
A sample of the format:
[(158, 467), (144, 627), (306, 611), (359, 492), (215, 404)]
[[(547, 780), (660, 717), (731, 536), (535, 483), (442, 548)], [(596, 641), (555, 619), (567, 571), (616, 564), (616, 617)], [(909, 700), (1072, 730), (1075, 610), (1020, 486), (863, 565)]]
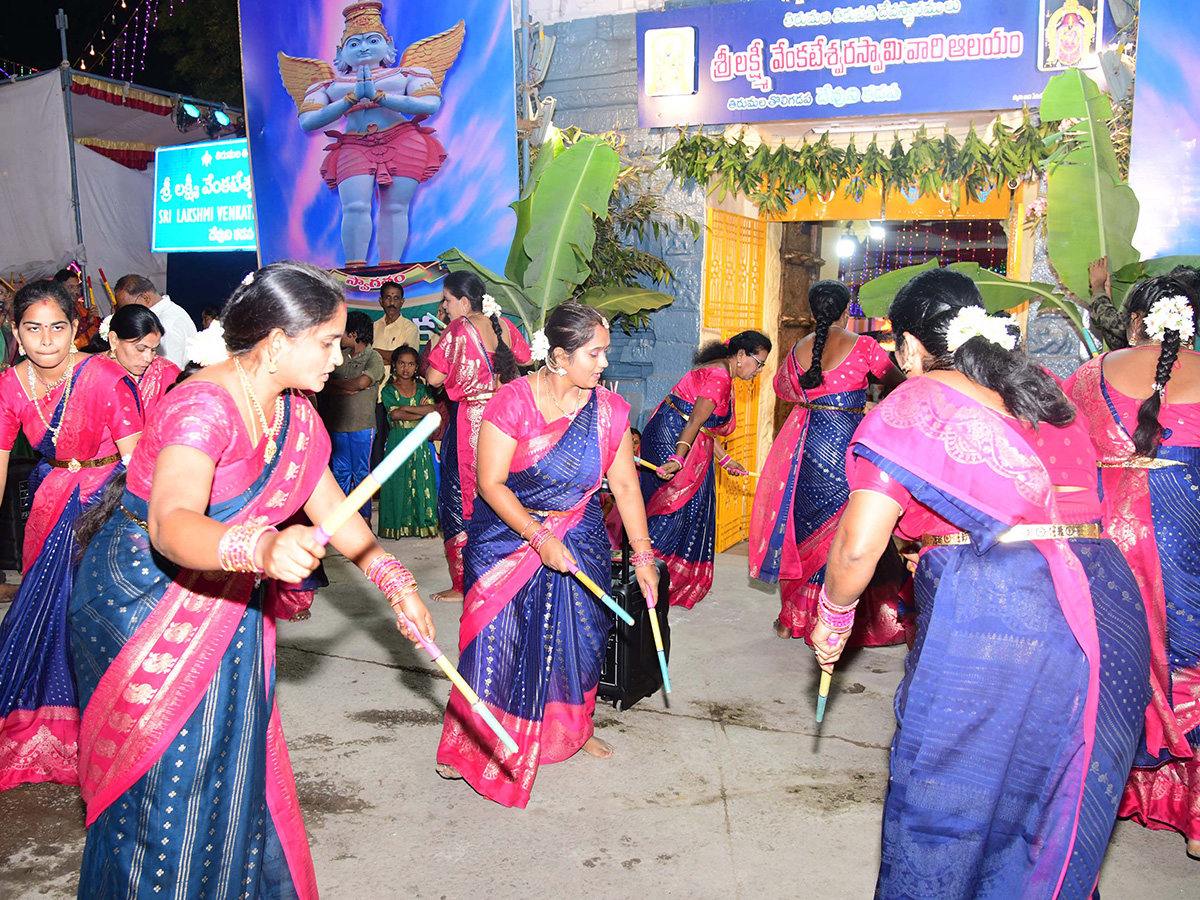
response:
[[(434, 412), (433, 395), (416, 377), (416, 350), (392, 353), (391, 383), (383, 389), (388, 410), (388, 452), (410, 428)], [(433, 451), (426, 442), (384, 482), (379, 500), (380, 538), (433, 538), (438, 534), (438, 488)]]

